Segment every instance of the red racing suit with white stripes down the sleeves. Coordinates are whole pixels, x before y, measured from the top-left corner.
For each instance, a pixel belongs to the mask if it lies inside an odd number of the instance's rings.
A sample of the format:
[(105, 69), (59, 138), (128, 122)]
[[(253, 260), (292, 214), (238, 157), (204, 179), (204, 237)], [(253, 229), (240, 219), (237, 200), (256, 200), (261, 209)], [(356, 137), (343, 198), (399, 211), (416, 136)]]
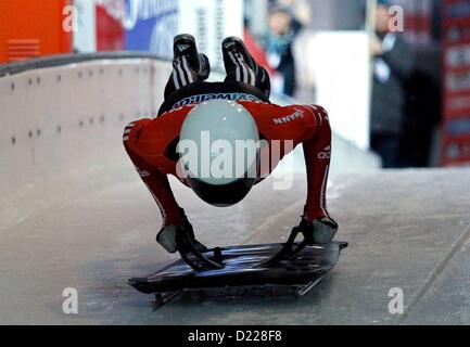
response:
[[(303, 144), (307, 169), (307, 198), (304, 217), (329, 217), (326, 206), (326, 189), (331, 156), (331, 129), (325, 108), (318, 105), (279, 106), (261, 101), (238, 101), (256, 121), (261, 138), (270, 144), (275, 140)], [(124, 131), (124, 145), (141, 179), (155, 198), (164, 226), (181, 226), (183, 216), (172, 192), (167, 175), (176, 175), (177, 158), (174, 154), (182, 123), (195, 104), (163, 113), (154, 119), (130, 123)], [(268, 147), (266, 147), (268, 150)], [(281, 145), (281, 159), (285, 154)], [(270, 163), (272, 171), (277, 163)], [(258, 172), (259, 177), (266, 177)], [(265, 175), (265, 176), (263, 176)], [(187, 184), (188, 185), (188, 184)]]

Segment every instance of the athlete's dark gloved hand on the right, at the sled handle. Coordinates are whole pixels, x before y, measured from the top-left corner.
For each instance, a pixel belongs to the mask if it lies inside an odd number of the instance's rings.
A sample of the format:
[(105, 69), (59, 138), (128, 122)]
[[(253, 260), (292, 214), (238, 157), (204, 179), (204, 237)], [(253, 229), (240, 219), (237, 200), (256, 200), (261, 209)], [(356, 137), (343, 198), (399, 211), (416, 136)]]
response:
[(312, 246), (330, 243), (336, 234), (339, 226), (330, 217), (315, 219), (312, 223), (302, 218), (300, 226), (296, 228), (298, 232), (304, 234), (308, 245)]

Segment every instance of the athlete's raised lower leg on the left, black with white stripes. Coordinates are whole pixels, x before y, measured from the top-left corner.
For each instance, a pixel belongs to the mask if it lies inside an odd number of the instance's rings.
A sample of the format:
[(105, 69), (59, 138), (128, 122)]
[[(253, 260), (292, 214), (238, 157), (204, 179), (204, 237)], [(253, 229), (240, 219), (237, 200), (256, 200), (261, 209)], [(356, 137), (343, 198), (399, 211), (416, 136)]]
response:
[(165, 87), (165, 99), (189, 83), (207, 79), (209, 73), (208, 59), (199, 54), (194, 38), (189, 34), (176, 36), (173, 72)]

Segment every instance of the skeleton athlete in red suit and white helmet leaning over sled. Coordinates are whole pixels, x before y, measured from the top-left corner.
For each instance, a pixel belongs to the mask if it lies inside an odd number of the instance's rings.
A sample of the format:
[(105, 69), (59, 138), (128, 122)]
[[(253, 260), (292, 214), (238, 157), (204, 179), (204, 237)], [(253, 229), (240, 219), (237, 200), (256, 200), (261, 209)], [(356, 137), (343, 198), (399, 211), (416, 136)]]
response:
[[(167, 175), (174, 175), (198, 196), (215, 206), (233, 205), (250, 189), (266, 178), (278, 162), (297, 144), (303, 145), (307, 169), (307, 197), (297, 228), (309, 244), (332, 241), (338, 223), (326, 206), (326, 188), (331, 153), (331, 129), (325, 108), (318, 105), (279, 106), (269, 102), (270, 81), (266, 70), (250, 55), (242, 40), (228, 37), (223, 42), (227, 77), (223, 82), (205, 81), (209, 62), (196, 49), (191, 35), (174, 41), (173, 73), (165, 88), (165, 101), (154, 119), (130, 123), (124, 131), (124, 145), (144, 184), (151, 191), (163, 216), (157, 242), (169, 253), (177, 252), (177, 232), (187, 233), (201, 250), (185, 210), (172, 192)], [(209, 131), (216, 139), (263, 140), (267, 145), (254, 157), (255, 177), (246, 172), (237, 177), (202, 177), (190, 170), (190, 163), (179, 168), (181, 140), (199, 141), (194, 133)], [(263, 172), (259, 157), (275, 142), (282, 145), (279, 160), (270, 158)], [(201, 143), (199, 143), (201, 144)], [(266, 170), (266, 169), (265, 169)], [(181, 171), (187, 175), (181, 175)], [(200, 174), (200, 172), (199, 172)]]

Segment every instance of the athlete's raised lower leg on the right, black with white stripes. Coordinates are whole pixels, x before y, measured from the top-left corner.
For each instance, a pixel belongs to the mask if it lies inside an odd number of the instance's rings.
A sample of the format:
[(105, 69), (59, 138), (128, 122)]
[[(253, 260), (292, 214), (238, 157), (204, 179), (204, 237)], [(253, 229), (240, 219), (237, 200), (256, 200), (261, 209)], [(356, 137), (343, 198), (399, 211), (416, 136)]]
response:
[(237, 37), (228, 37), (224, 40), (221, 47), (227, 73), (226, 80), (256, 87), (269, 98), (269, 75), (263, 66), (256, 63), (243, 41)]

